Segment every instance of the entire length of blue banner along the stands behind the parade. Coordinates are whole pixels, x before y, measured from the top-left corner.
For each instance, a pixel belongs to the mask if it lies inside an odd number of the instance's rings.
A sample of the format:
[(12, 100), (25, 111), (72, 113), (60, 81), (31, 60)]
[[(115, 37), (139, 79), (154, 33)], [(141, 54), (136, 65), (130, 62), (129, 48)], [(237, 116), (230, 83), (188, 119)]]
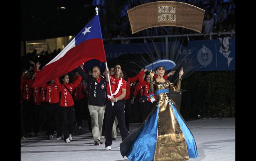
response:
[[(169, 50), (172, 43), (169, 42)], [(178, 42), (180, 44), (180, 42)], [(165, 50), (163, 42), (155, 43), (160, 52)], [(180, 46), (180, 45), (179, 45)], [(107, 61), (115, 59), (125, 54), (139, 54), (146, 53), (150, 48), (155, 52), (152, 42), (135, 43), (135, 44), (117, 44), (104, 45)], [(146, 49), (146, 50), (145, 50)], [(225, 71), (235, 70), (235, 39), (229, 37), (218, 40), (194, 40), (188, 41), (187, 47), (182, 47), (178, 54), (191, 54), (190, 57), (197, 59), (197, 63), (203, 67), (197, 71)], [(105, 69), (105, 63), (97, 60), (91, 60), (85, 63), (85, 69), (90, 69), (98, 65), (101, 69)]]

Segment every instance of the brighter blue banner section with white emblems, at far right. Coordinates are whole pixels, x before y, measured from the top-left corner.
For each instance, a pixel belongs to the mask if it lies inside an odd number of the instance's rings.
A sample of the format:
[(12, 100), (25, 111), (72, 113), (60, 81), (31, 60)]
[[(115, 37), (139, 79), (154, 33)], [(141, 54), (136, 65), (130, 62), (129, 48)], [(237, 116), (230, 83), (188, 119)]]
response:
[(203, 67), (197, 71), (235, 70), (235, 39), (190, 41), (193, 57)]

